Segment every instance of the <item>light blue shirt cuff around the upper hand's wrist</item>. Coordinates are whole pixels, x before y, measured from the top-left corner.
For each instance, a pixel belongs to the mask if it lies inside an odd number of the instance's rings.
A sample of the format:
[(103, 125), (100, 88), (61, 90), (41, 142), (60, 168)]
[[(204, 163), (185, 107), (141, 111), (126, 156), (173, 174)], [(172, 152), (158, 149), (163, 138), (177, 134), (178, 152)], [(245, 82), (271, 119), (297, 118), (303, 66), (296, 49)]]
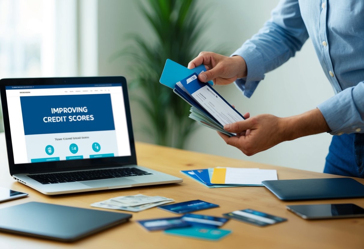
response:
[(250, 98), (257, 88), (258, 83), (264, 79), (265, 69), (262, 54), (256, 49), (254, 44), (243, 44), (231, 56), (241, 56), (244, 58), (248, 75), (235, 81), (235, 85)]

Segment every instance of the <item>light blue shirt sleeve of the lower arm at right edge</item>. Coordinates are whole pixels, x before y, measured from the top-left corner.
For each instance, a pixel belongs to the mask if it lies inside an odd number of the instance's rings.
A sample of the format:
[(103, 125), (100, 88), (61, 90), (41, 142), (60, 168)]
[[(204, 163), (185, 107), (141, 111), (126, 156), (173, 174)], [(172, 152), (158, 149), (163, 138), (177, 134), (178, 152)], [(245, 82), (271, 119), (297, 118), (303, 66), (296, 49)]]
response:
[(349, 87), (317, 106), (330, 134), (364, 133), (364, 81)]

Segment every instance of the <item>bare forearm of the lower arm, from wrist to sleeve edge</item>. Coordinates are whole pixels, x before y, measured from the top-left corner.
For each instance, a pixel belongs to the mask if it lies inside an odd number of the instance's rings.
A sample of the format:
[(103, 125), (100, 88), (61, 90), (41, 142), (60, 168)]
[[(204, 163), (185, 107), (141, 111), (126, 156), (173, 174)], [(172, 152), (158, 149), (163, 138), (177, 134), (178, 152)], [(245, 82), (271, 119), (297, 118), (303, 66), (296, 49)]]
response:
[(317, 108), (300, 115), (282, 118), (280, 123), (285, 141), (331, 131), (321, 111)]

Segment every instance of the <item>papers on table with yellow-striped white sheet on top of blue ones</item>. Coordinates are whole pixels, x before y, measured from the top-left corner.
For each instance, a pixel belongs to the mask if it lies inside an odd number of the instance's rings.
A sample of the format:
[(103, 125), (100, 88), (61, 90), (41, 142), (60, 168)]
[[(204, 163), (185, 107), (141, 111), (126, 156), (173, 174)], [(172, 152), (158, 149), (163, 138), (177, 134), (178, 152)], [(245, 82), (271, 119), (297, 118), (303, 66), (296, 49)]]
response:
[(276, 170), (259, 168), (216, 167), (181, 172), (209, 188), (263, 186), (262, 181), (278, 179)]

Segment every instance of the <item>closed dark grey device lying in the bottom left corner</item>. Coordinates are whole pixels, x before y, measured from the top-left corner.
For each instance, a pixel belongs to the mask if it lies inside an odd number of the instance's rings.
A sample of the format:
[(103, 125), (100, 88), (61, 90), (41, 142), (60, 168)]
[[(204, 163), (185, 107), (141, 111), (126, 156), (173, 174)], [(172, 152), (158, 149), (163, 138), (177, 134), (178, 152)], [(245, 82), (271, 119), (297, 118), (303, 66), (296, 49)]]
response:
[(28, 202), (0, 209), (0, 231), (72, 242), (130, 217), (125, 213)]

